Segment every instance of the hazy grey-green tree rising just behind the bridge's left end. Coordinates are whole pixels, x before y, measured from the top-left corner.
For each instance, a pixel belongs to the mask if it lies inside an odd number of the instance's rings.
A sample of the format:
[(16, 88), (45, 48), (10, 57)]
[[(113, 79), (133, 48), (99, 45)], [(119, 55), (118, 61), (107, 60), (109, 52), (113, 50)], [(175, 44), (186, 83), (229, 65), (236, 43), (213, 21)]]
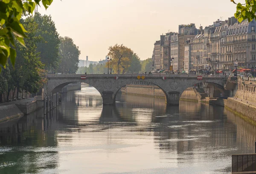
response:
[(59, 56), (61, 63), (58, 67), (58, 72), (62, 74), (75, 74), (78, 69), (79, 47), (76, 46), (70, 37), (59, 37), (60, 47)]

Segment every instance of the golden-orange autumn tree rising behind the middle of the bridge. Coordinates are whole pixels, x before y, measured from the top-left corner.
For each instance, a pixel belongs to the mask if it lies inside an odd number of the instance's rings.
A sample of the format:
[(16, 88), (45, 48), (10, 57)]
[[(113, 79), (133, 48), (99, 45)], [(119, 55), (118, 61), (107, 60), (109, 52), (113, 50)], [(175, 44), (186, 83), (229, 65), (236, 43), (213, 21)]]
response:
[(112, 58), (112, 68), (118, 74), (128, 71), (134, 52), (123, 45), (114, 45), (108, 48), (108, 56)]

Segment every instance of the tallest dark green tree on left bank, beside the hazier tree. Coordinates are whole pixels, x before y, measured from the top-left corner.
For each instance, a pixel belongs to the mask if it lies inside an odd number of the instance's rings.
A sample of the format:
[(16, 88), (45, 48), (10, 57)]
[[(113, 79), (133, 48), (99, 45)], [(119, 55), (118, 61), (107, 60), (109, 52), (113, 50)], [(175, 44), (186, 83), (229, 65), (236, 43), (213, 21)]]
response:
[(51, 16), (41, 16), (36, 13), (35, 22), (38, 24), (37, 36), (41, 36), (42, 40), (37, 44), (37, 51), (40, 52), (41, 61), (45, 64), (47, 70), (58, 67), (59, 64), (59, 34), (55, 28), (55, 23)]

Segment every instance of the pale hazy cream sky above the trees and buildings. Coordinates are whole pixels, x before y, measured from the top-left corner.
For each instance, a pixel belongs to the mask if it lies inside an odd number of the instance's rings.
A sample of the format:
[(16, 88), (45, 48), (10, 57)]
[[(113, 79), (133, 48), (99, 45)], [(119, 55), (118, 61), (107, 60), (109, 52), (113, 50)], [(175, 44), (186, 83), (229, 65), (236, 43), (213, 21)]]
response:
[[(244, 2), (244, 0), (240, 0)], [(108, 47), (124, 44), (141, 60), (152, 56), (160, 34), (179, 24), (205, 27), (236, 11), (230, 0), (54, 0), (41, 14), (50, 14), (60, 36), (68, 36), (81, 50), (80, 59), (98, 61)]]

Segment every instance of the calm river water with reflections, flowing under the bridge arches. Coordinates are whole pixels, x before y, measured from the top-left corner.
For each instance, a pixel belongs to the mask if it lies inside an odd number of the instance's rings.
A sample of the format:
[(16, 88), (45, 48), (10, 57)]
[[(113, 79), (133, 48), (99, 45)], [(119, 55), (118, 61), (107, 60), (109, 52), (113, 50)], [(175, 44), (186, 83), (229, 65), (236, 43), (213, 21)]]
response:
[(58, 108), (0, 124), (0, 174), (228, 174), (231, 154), (254, 153), (255, 126), (222, 107), (95, 88)]

